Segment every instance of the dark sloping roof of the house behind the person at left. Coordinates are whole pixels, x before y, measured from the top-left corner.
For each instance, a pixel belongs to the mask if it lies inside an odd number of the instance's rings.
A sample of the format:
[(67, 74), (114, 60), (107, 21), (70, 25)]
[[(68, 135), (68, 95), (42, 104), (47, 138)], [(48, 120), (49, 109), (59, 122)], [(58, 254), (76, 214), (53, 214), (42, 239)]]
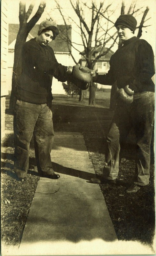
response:
[[(61, 31), (65, 30), (65, 25), (58, 25), (60, 34), (56, 36), (55, 40), (49, 43), (49, 46), (53, 48), (54, 52), (69, 52), (67, 42), (63, 40), (61, 36)], [(19, 24), (9, 24), (9, 45), (16, 40), (19, 30)], [(36, 37), (39, 30), (39, 24), (36, 24), (29, 33), (29, 36)], [(68, 26), (68, 36), (71, 37), (71, 26)], [(10, 48), (10, 47), (9, 47)], [(71, 46), (70, 46), (71, 49)]]

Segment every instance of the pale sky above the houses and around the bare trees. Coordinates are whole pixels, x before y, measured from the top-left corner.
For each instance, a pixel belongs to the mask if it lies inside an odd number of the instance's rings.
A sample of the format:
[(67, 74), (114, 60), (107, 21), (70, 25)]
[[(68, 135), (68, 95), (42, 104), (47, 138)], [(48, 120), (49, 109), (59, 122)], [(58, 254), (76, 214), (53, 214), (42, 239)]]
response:
[[(2, 0), (3, 1), (3, 0)], [(74, 13), (74, 11), (71, 9), (70, 7), (70, 3), (69, 0), (57, 0), (60, 5), (62, 6), (62, 11), (64, 12), (64, 14), (70, 14), (70, 16), (76, 20), (76, 14)], [(85, 0), (81, 0), (81, 1), (85, 1)], [(32, 0), (26, 0), (26, 8), (28, 8), (29, 4), (32, 2)], [(76, 0), (74, 0), (74, 3), (76, 2)], [(87, 0), (87, 3), (91, 2), (91, 0)], [(130, 5), (130, 0), (125, 0), (125, 10), (126, 8), (129, 7)], [(35, 12), (38, 9), (40, 0), (35, 0), (35, 6), (33, 8), (33, 12), (32, 15), (30, 16), (30, 18), (35, 14)], [(96, 0), (96, 4), (99, 4), (100, 0)], [(115, 13), (113, 14), (113, 18), (114, 21), (118, 18), (118, 16), (120, 15), (120, 10), (121, 10), (121, 0), (104, 0), (105, 4), (110, 4), (112, 3), (111, 8), (115, 10)], [(19, 23), (19, 0), (7, 0), (7, 4), (8, 4), (8, 16), (9, 16), (9, 23)], [(155, 44), (156, 44), (156, 1), (155, 0), (137, 0), (137, 6), (138, 8), (140, 7), (146, 7), (149, 6), (149, 12), (147, 14), (147, 18), (150, 18), (147, 22), (146, 25), (151, 25), (149, 27), (146, 27), (143, 29), (143, 33), (142, 33), (142, 37), (143, 39), (145, 39), (149, 44), (152, 45), (153, 51), (155, 53)], [(46, 8), (45, 11), (43, 12), (41, 18), (39, 19), (39, 21), (37, 22), (37, 24), (39, 24), (42, 20), (45, 20), (48, 17), (48, 13), (51, 13), (51, 16), (53, 18), (53, 20), (56, 21), (57, 24), (63, 24), (62, 19), (59, 16), (59, 13), (56, 9), (56, 4), (54, 0), (46, 0)], [(89, 17), (89, 15), (86, 15), (86, 17)], [(141, 16), (140, 16), (141, 17)], [(136, 19), (140, 20), (140, 17), (136, 17)], [(74, 24), (72, 24), (72, 26), (74, 27)], [(78, 37), (75, 37), (76, 40), (78, 40)], [(117, 45), (113, 48), (113, 50), (115, 51), (117, 49)]]

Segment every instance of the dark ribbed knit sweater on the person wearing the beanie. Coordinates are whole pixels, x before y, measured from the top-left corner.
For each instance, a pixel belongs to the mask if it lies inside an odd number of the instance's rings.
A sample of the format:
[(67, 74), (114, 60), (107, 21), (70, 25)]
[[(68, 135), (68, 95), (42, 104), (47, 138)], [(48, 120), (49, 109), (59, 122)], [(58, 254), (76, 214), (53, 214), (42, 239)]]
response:
[(136, 36), (126, 40), (110, 58), (110, 70), (106, 75), (93, 77), (93, 82), (129, 88), (134, 92), (154, 92), (151, 77), (155, 74), (152, 47), (144, 39)]

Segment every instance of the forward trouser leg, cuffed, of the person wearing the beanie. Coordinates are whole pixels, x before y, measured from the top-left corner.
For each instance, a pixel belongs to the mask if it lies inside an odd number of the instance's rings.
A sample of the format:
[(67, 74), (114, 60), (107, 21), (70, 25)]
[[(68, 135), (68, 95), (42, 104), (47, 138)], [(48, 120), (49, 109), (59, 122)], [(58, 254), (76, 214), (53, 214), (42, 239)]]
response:
[(130, 129), (131, 122), (128, 111), (122, 105), (117, 105), (106, 139), (104, 179), (117, 179), (121, 160), (120, 144), (127, 138)]

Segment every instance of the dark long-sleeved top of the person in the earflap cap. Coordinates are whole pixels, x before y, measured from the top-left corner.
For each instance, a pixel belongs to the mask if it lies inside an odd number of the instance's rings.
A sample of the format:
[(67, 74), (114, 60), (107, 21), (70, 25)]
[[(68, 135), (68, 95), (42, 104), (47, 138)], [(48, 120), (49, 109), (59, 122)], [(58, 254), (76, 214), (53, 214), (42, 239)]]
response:
[(22, 48), (22, 72), (17, 83), (16, 97), (34, 104), (44, 104), (53, 99), (53, 76), (65, 82), (67, 67), (59, 64), (50, 46), (40, 46), (33, 38)]

